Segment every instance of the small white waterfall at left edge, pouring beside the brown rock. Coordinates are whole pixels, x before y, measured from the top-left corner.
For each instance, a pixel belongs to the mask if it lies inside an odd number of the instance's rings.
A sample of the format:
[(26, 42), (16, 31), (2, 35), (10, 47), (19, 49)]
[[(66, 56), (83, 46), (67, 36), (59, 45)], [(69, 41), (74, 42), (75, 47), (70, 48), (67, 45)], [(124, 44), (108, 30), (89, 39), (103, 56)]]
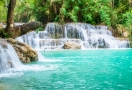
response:
[(0, 40), (0, 73), (21, 64), (14, 48), (4, 40)]

